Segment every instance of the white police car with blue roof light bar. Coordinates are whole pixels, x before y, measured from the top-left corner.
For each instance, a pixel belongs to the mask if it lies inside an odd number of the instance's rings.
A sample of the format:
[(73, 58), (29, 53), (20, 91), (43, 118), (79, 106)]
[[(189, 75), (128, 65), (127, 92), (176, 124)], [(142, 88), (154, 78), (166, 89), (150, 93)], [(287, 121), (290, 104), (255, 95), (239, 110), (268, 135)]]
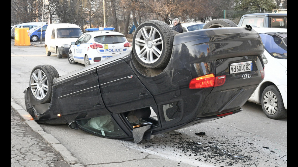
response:
[(120, 32), (113, 32), (114, 29), (87, 28), (87, 33), (81, 35), (76, 42), (71, 42), (69, 63), (88, 66), (131, 50), (125, 36)]

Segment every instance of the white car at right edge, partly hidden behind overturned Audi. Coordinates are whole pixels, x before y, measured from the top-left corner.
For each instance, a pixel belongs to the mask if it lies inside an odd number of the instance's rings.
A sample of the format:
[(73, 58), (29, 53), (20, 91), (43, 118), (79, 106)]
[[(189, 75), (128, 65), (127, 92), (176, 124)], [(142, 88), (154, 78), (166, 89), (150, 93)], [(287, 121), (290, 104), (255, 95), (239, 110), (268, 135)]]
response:
[(287, 29), (253, 28), (265, 47), (262, 55), (265, 78), (248, 99), (261, 104), (265, 115), (271, 119), (287, 117)]

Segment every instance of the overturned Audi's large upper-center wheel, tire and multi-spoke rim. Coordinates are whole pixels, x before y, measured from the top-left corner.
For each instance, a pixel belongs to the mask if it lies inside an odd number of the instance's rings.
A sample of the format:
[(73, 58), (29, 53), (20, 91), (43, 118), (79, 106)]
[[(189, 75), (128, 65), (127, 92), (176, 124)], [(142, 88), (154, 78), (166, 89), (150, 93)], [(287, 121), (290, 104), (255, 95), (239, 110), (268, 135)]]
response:
[[(151, 35), (152, 34), (152, 35)], [(157, 20), (140, 24), (133, 35), (133, 54), (146, 68), (161, 68), (168, 64), (173, 48), (174, 32)]]

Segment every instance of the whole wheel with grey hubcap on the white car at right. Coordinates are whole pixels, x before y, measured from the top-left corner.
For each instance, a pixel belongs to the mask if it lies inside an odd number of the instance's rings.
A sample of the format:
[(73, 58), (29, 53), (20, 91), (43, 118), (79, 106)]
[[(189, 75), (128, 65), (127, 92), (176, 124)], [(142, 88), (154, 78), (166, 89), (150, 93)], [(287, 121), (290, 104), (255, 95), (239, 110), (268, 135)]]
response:
[(271, 119), (283, 119), (287, 116), (282, 101), (282, 95), (275, 85), (267, 86), (262, 93), (262, 109), (265, 115)]

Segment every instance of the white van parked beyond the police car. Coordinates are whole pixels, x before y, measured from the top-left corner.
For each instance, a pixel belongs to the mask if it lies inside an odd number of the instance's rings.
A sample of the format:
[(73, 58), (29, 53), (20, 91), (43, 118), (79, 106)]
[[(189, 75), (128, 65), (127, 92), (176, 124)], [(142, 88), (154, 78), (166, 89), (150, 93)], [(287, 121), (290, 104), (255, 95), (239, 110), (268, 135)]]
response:
[(47, 56), (51, 52), (56, 53), (58, 58), (67, 55), (71, 42), (83, 34), (81, 28), (75, 24), (57, 23), (49, 24), (46, 30), (45, 45)]

